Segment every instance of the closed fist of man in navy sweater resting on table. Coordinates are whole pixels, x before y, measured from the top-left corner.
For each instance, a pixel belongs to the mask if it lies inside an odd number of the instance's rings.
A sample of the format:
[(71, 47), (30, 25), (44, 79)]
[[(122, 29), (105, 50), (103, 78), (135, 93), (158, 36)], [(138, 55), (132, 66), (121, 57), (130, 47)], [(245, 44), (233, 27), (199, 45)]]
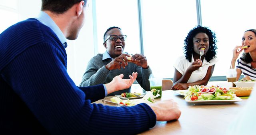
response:
[(178, 108), (178, 103), (173, 99), (158, 101), (149, 105), (156, 114), (157, 121), (171, 121), (179, 119), (181, 111)]

